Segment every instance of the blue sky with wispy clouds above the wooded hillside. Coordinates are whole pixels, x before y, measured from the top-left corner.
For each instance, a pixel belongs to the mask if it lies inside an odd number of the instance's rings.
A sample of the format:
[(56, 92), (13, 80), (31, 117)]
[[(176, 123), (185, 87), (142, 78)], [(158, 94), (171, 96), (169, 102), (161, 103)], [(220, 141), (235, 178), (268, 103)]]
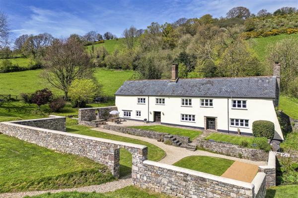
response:
[(283, 6), (298, 7), (298, 0), (0, 0), (12, 39), (43, 32), (62, 38), (90, 30), (120, 37), (131, 25), (145, 29), (153, 21), (162, 24), (207, 13), (221, 17), (235, 6), (252, 13), (262, 8), (273, 12)]

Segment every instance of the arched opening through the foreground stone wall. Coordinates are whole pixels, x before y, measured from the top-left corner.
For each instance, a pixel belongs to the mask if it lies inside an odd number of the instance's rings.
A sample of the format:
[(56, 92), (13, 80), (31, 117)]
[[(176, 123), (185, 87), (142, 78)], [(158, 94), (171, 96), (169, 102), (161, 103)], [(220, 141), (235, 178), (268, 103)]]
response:
[(120, 148), (120, 178), (132, 175), (132, 154), (125, 148)]

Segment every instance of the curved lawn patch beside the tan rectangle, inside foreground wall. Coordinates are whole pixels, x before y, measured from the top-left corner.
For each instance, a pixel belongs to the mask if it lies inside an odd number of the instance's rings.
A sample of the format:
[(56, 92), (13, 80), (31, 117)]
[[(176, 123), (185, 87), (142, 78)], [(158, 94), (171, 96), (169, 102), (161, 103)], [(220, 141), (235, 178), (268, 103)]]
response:
[(222, 174), (224, 174), (226, 169), (228, 169), (232, 165), (232, 163), (234, 163), (233, 160), (218, 157), (188, 156), (180, 159), (173, 165), (221, 176)]

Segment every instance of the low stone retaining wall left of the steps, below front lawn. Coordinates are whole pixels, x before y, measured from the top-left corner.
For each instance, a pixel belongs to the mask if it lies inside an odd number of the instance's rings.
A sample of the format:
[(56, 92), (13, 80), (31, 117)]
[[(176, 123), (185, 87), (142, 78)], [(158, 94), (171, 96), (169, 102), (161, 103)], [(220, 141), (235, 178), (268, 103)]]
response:
[(142, 130), (142, 129), (136, 129), (136, 128), (130, 128), (130, 127), (121, 127), (121, 126), (115, 126), (115, 125), (103, 125), (103, 128), (111, 131), (117, 131), (120, 133), (126, 133), (130, 135), (135, 135), (135, 136), (142, 136), (142, 137), (160, 140), (160, 141), (163, 141), (164, 136), (171, 135), (175, 137), (177, 140), (179, 140), (182, 143), (182, 145), (187, 145), (190, 142), (189, 137), (172, 135), (169, 133), (161, 133), (157, 131), (149, 131), (149, 130)]

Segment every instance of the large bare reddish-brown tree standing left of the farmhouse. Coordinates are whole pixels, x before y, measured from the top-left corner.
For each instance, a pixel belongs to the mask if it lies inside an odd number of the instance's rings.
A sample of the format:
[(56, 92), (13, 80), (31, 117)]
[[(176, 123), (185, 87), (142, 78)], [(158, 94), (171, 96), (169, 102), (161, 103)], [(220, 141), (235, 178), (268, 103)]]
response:
[(89, 78), (93, 73), (84, 47), (74, 38), (55, 40), (47, 49), (44, 61), (42, 77), (62, 90), (66, 99), (74, 79)]

